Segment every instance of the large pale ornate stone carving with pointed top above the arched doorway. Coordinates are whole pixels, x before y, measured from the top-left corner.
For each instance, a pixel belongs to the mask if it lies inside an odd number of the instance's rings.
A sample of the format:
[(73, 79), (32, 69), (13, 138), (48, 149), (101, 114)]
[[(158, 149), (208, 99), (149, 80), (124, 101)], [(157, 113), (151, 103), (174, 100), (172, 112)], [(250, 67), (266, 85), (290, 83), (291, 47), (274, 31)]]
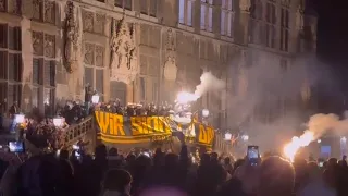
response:
[(111, 79), (129, 84), (138, 73), (135, 47), (135, 25), (128, 25), (125, 17), (120, 21), (111, 40)]

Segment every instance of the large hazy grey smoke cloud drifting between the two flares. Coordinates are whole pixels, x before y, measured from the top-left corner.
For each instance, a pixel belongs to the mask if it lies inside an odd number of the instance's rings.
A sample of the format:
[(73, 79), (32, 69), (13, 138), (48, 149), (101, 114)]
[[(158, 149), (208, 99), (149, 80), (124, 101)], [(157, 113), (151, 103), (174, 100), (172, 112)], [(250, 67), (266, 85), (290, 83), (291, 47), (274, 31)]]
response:
[[(300, 125), (312, 113), (300, 108), (303, 85), (316, 87), (324, 83), (333, 88), (331, 74), (315, 57), (297, 58), (288, 61), (286, 68), (282, 68), (278, 57), (261, 51), (257, 57), (247, 57), (246, 61), (250, 61), (248, 68), (238, 68), (237, 62), (231, 62), (228, 75), (233, 77), (235, 93), (226, 96), (228, 120), (225, 126), (248, 133), (249, 143), (259, 145), (260, 149), (283, 148), (296, 132), (301, 131)], [(241, 81), (247, 81), (243, 82), (245, 86)], [(282, 101), (286, 101), (286, 109), (282, 108), (285, 105)], [(272, 112), (277, 115), (265, 117)], [(308, 124), (313, 124), (312, 121)]]

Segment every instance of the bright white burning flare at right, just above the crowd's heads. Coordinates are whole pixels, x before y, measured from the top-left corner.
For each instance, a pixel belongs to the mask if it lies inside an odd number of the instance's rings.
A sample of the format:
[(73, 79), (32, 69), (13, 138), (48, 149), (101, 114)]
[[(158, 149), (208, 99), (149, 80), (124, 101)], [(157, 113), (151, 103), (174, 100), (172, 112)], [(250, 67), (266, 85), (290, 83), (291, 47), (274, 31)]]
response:
[(300, 137), (293, 137), (293, 140), (285, 145), (284, 155), (293, 162), (298, 149), (308, 146), (313, 140), (314, 133), (311, 131), (306, 131), (303, 135)]

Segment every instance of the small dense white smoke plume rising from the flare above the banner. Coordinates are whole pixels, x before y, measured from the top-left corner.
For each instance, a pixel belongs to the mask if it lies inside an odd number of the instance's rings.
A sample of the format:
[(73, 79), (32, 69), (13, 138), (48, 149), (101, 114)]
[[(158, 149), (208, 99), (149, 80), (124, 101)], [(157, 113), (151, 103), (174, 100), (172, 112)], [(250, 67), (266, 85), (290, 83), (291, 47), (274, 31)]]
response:
[(225, 88), (225, 82), (215, 77), (211, 72), (204, 72), (200, 76), (200, 84), (196, 86), (195, 95), (203, 96), (208, 91), (219, 91)]

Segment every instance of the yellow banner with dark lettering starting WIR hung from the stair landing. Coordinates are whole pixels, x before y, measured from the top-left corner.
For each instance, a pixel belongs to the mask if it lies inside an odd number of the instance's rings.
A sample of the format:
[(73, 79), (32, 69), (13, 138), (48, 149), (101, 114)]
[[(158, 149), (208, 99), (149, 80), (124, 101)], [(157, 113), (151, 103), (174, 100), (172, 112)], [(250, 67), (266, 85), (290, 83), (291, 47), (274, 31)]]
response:
[[(170, 139), (175, 131), (194, 128), (195, 143), (212, 146), (214, 130), (192, 122), (178, 124), (167, 117), (124, 117), (115, 113), (95, 111), (101, 140), (113, 144), (136, 144)], [(194, 125), (194, 126), (192, 126)], [(183, 131), (184, 132), (184, 131)]]

